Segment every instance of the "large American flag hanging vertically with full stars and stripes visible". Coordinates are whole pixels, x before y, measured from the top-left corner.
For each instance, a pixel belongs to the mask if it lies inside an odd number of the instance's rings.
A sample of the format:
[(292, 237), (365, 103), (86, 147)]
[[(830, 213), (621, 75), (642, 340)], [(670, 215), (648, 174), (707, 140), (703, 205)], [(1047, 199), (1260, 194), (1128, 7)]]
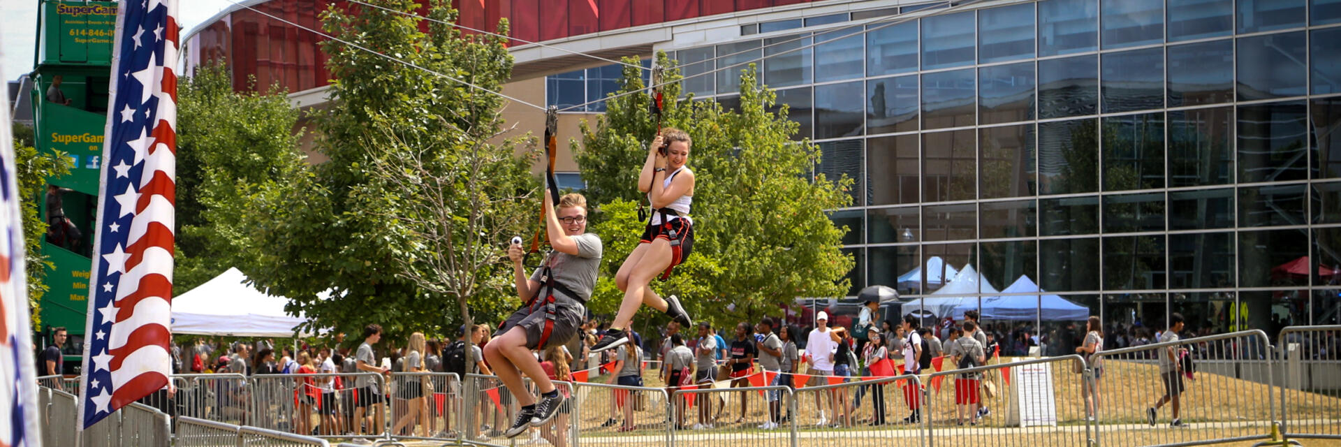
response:
[(121, 1), (84, 332), (82, 428), (172, 375), (177, 1)]

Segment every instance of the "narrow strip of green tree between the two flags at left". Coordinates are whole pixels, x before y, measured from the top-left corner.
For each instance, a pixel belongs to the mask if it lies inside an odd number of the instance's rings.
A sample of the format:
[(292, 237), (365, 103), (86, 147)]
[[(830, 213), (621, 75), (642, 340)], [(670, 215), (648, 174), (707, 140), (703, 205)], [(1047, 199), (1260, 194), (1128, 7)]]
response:
[[(17, 128), (17, 126), (16, 126)], [(32, 329), (42, 328), (42, 295), (47, 287), (47, 271), (55, 266), (42, 254), (42, 239), (47, 235), (47, 221), (42, 219), (38, 208), (47, 196), (47, 179), (70, 173), (70, 157), (63, 152), (38, 153), (31, 144), (32, 132), (28, 130), (28, 141), (13, 140), (15, 169), (19, 170), (19, 205), (23, 213), (23, 248), (24, 268), (28, 272), (28, 311), (32, 318)]]

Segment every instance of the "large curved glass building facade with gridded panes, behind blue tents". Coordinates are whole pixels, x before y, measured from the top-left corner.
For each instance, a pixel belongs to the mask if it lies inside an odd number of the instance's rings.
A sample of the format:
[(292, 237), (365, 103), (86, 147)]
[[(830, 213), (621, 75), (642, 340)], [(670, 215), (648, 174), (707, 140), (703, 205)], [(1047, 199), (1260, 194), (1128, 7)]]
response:
[[(1172, 311), (1203, 334), (1337, 324), (1341, 0), (927, 13), (865, 34), (746, 26), (676, 52), (707, 60), (685, 75), (763, 58), (797, 138), (823, 152), (817, 170), (856, 179), (854, 205), (833, 212), (850, 294), (947, 297), (972, 271), (967, 295), (1006, 352), (1029, 332), (1069, 353), (1075, 306), (1116, 344)], [(732, 105), (738, 83), (732, 70), (685, 90)]]

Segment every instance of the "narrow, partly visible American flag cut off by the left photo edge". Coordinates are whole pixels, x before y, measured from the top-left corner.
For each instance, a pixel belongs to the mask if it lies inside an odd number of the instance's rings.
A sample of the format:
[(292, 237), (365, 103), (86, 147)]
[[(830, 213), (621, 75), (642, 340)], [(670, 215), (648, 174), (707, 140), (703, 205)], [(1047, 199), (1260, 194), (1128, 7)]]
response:
[[(3, 48), (3, 47), (0, 47)], [(0, 446), (42, 446), (9, 110), (0, 107)]]

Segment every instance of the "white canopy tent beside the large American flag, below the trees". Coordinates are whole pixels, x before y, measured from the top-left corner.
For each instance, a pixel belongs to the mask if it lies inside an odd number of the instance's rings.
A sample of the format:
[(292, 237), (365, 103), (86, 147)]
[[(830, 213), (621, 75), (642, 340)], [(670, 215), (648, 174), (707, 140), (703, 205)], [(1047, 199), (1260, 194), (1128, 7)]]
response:
[[(172, 299), (173, 334), (225, 337), (294, 337), (307, 321), (284, 313), (288, 298), (248, 286), (247, 275), (228, 268), (215, 279)], [(311, 333), (300, 333), (307, 337)]]

